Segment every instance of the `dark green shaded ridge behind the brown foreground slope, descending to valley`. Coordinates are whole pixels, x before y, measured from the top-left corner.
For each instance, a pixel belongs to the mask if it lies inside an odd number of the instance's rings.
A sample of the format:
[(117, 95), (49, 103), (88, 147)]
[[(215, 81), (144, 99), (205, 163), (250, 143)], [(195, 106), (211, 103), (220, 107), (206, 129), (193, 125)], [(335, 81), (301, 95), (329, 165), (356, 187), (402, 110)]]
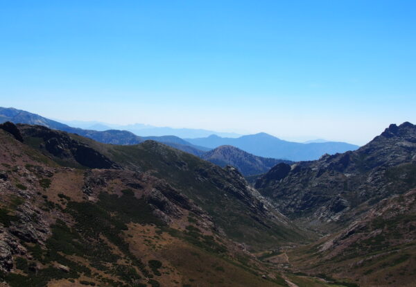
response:
[[(205, 209), (227, 235), (248, 246), (270, 245), (273, 241), (286, 241), (288, 238), (302, 240), (302, 235), (297, 234), (284, 216), (267, 208), (268, 202), (245, 182), (235, 168), (220, 168), (156, 141), (116, 146), (36, 125), (17, 127), (28, 145), (61, 165), (108, 168), (92, 166), (85, 157), (84, 162), (77, 159), (78, 146), (87, 146), (104, 157), (105, 162), (110, 162), (112, 168), (115, 166), (162, 178)], [(224, 206), (233, 208), (224, 209)], [(248, 230), (247, 224), (254, 229)]]

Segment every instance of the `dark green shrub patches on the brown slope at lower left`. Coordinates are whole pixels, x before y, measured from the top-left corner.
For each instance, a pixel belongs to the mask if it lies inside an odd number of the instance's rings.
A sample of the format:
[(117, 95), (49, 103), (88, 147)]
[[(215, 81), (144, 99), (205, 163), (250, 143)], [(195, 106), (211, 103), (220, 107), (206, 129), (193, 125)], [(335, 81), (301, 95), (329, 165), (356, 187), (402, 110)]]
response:
[[(62, 196), (60, 196), (62, 198)], [(92, 276), (91, 270), (85, 266), (67, 259), (62, 254), (76, 255), (87, 259), (94, 268), (103, 270), (118, 277), (120, 280), (134, 284), (141, 279), (137, 272), (149, 277), (144, 263), (130, 253), (128, 244), (125, 243), (121, 234), (127, 229), (127, 223), (146, 223), (163, 226), (158, 218), (153, 216), (150, 207), (135, 198), (131, 193), (123, 193), (119, 198), (117, 195), (102, 193), (97, 204), (91, 202), (69, 202), (65, 211), (76, 220), (74, 227), (68, 227), (62, 220), (57, 220), (52, 225), (52, 235), (46, 241), (46, 250), (39, 245), (27, 245), (34, 259), (48, 266), (52, 262), (68, 266), (70, 272), (62, 272), (49, 266), (32, 272), (28, 267), (26, 259), (18, 259), (18, 268), (29, 276), (11, 274), (6, 278), (9, 284), (14, 286), (45, 286), (50, 279), (78, 278), (80, 275)], [(7, 211), (0, 212), (2, 222), (9, 223), (14, 219)], [(118, 264), (120, 255), (114, 254), (112, 248), (103, 239), (103, 236), (123, 252), (126, 260), (132, 262), (131, 266)], [(150, 268), (155, 275), (161, 267), (159, 261), (151, 261)], [(108, 264), (110, 263), (110, 266)], [(89, 282), (89, 285), (92, 285)], [(149, 282), (150, 283), (150, 282)], [(153, 280), (152, 286), (158, 286)]]

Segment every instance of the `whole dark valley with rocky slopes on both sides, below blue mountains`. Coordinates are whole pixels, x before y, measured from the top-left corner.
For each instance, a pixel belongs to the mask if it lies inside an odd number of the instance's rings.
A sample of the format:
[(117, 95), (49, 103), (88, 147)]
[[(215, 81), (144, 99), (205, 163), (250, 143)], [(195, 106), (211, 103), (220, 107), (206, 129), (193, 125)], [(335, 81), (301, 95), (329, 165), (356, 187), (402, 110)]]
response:
[[(411, 123), (355, 151), (279, 162), (255, 188), (232, 166), (152, 140), (119, 146), (9, 122), (0, 145), (0, 278), (11, 287), (416, 280)], [(208, 155), (259, 164), (235, 149)]]

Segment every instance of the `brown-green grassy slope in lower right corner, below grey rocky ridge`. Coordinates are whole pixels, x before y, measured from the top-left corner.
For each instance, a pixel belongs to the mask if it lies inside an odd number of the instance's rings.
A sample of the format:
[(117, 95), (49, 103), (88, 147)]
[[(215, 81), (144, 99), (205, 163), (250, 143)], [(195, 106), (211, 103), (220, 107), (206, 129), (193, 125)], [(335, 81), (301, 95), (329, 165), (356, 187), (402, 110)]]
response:
[(382, 200), (342, 231), (288, 254), (302, 272), (350, 277), (362, 286), (413, 286), (415, 246), (413, 189)]

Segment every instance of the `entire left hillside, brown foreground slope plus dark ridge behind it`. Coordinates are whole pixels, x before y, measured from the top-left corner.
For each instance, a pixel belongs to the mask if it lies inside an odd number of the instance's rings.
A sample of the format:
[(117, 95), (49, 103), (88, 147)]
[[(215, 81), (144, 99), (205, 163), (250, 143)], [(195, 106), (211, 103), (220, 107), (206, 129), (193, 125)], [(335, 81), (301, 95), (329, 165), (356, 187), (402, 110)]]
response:
[(234, 168), (39, 125), (0, 125), (0, 146), (5, 286), (287, 285), (248, 249), (304, 236)]

